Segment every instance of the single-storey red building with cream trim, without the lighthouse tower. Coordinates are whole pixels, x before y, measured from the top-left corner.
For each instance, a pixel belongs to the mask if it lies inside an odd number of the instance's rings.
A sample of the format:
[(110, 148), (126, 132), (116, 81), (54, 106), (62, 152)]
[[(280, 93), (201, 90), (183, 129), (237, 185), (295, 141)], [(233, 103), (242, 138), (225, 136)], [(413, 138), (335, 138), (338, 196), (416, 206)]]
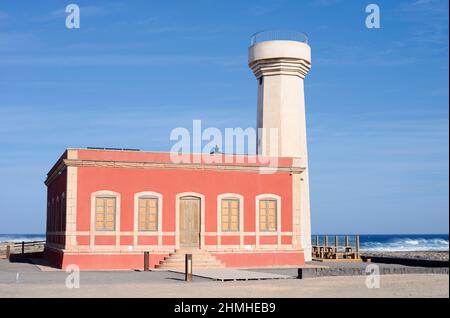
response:
[(63, 268), (139, 269), (144, 251), (156, 266), (175, 250), (200, 249), (227, 267), (303, 264), (293, 227), (303, 169), (278, 158), (275, 173), (261, 173), (252, 157), (210, 156), (233, 163), (68, 149), (46, 181), (47, 258)]

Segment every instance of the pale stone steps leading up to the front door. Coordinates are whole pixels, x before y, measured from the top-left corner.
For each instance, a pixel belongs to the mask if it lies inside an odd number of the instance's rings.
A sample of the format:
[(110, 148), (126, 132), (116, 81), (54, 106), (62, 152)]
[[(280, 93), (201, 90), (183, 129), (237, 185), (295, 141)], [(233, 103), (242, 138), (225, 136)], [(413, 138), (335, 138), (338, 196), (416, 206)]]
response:
[(225, 265), (207, 251), (200, 249), (176, 249), (170, 253), (163, 261), (160, 261), (156, 268), (167, 270), (184, 270), (185, 255), (192, 254), (192, 269), (224, 268)]

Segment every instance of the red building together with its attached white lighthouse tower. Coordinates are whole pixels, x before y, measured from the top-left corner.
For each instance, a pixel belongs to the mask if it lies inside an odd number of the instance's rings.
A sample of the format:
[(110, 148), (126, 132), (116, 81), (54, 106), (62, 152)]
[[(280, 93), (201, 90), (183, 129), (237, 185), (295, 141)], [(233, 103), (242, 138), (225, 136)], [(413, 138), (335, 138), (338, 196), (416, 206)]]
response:
[[(258, 133), (255, 156), (67, 149), (47, 175), (46, 258), (58, 267), (297, 266), (311, 256), (303, 79), (304, 42), (253, 41), (258, 128), (279, 132), (276, 153)], [(283, 98), (280, 98), (283, 96)], [(213, 162), (211, 159), (214, 159)], [(273, 170), (273, 169), (272, 169)]]

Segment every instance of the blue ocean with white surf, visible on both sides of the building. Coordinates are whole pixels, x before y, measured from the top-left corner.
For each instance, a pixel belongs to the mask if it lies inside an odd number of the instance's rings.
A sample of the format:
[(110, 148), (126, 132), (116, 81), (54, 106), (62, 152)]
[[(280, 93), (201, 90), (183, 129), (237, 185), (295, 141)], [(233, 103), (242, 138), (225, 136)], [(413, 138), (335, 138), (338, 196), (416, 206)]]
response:
[[(362, 251), (372, 252), (409, 252), (409, 251), (448, 251), (448, 234), (391, 234), (391, 235), (360, 235)], [(319, 236), (323, 244), (323, 236)], [(339, 245), (344, 244), (344, 236), (339, 235)], [(44, 234), (0, 234), (2, 242), (41, 241)], [(313, 235), (312, 243), (316, 241)], [(354, 244), (354, 236), (349, 237), (349, 243)], [(334, 245), (334, 235), (328, 236), (330, 245)]]

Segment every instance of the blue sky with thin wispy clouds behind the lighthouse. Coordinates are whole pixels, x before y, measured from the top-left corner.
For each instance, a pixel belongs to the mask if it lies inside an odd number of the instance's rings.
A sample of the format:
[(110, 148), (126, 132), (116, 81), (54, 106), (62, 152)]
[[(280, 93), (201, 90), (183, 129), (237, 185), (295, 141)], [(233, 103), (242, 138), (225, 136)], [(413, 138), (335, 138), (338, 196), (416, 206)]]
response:
[[(67, 147), (254, 127), (250, 35), (302, 30), (312, 230), (448, 233), (448, 1), (0, 1), (0, 233), (45, 230)], [(377, 3), (381, 28), (365, 27)]]

